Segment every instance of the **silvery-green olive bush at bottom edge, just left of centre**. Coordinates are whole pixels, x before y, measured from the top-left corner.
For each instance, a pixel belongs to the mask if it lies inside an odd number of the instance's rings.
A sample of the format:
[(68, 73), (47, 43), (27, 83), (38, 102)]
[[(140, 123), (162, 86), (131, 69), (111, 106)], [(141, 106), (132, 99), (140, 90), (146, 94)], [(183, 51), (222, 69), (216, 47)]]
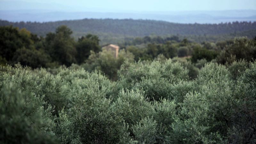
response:
[(82, 83), (83, 87), (75, 86), (71, 91), (68, 115), (71, 136), (75, 136), (72, 139), (82, 143), (118, 143), (124, 136), (122, 117), (115, 113), (111, 100), (104, 97), (95, 81)]

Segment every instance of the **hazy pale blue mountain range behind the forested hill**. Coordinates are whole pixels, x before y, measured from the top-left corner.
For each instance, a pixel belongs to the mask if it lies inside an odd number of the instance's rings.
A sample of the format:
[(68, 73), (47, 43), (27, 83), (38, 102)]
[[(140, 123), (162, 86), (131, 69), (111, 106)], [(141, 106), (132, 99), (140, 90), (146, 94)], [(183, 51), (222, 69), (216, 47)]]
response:
[(0, 19), (8, 21), (57, 21), (93, 19), (163, 20), (175, 23), (221, 23), (256, 21), (256, 10), (181, 11), (181, 12), (63, 12), (51, 10), (0, 10)]

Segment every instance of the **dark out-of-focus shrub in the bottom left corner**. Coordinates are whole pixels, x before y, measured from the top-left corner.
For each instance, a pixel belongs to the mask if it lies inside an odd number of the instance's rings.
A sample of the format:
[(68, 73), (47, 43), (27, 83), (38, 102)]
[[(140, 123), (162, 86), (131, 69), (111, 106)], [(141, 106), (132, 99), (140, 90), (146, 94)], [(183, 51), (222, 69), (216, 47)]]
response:
[(57, 143), (52, 107), (12, 81), (1, 84), (0, 143)]

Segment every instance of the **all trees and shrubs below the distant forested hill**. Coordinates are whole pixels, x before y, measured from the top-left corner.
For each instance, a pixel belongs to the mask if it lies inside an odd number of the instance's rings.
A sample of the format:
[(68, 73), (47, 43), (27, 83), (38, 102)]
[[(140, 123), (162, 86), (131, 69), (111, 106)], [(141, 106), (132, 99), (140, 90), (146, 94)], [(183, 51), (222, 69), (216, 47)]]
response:
[(0, 32), (0, 143), (256, 143), (256, 39)]

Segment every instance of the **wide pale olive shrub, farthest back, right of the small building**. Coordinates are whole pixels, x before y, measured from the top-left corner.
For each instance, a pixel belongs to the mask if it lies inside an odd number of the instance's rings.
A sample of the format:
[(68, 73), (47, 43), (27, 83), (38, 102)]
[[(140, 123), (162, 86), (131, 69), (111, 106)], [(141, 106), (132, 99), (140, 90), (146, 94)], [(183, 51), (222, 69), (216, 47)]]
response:
[[(139, 67), (139, 68), (138, 68)], [(171, 59), (164, 63), (159, 61), (129, 63), (126, 61), (118, 71), (119, 79), (123, 87), (131, 88), (136, 82), (141, 82), (143, 77), (162, 77), (177, 82), (180, 79), (188, 79), (188, 70), (183, 68), (179, 62)]]

